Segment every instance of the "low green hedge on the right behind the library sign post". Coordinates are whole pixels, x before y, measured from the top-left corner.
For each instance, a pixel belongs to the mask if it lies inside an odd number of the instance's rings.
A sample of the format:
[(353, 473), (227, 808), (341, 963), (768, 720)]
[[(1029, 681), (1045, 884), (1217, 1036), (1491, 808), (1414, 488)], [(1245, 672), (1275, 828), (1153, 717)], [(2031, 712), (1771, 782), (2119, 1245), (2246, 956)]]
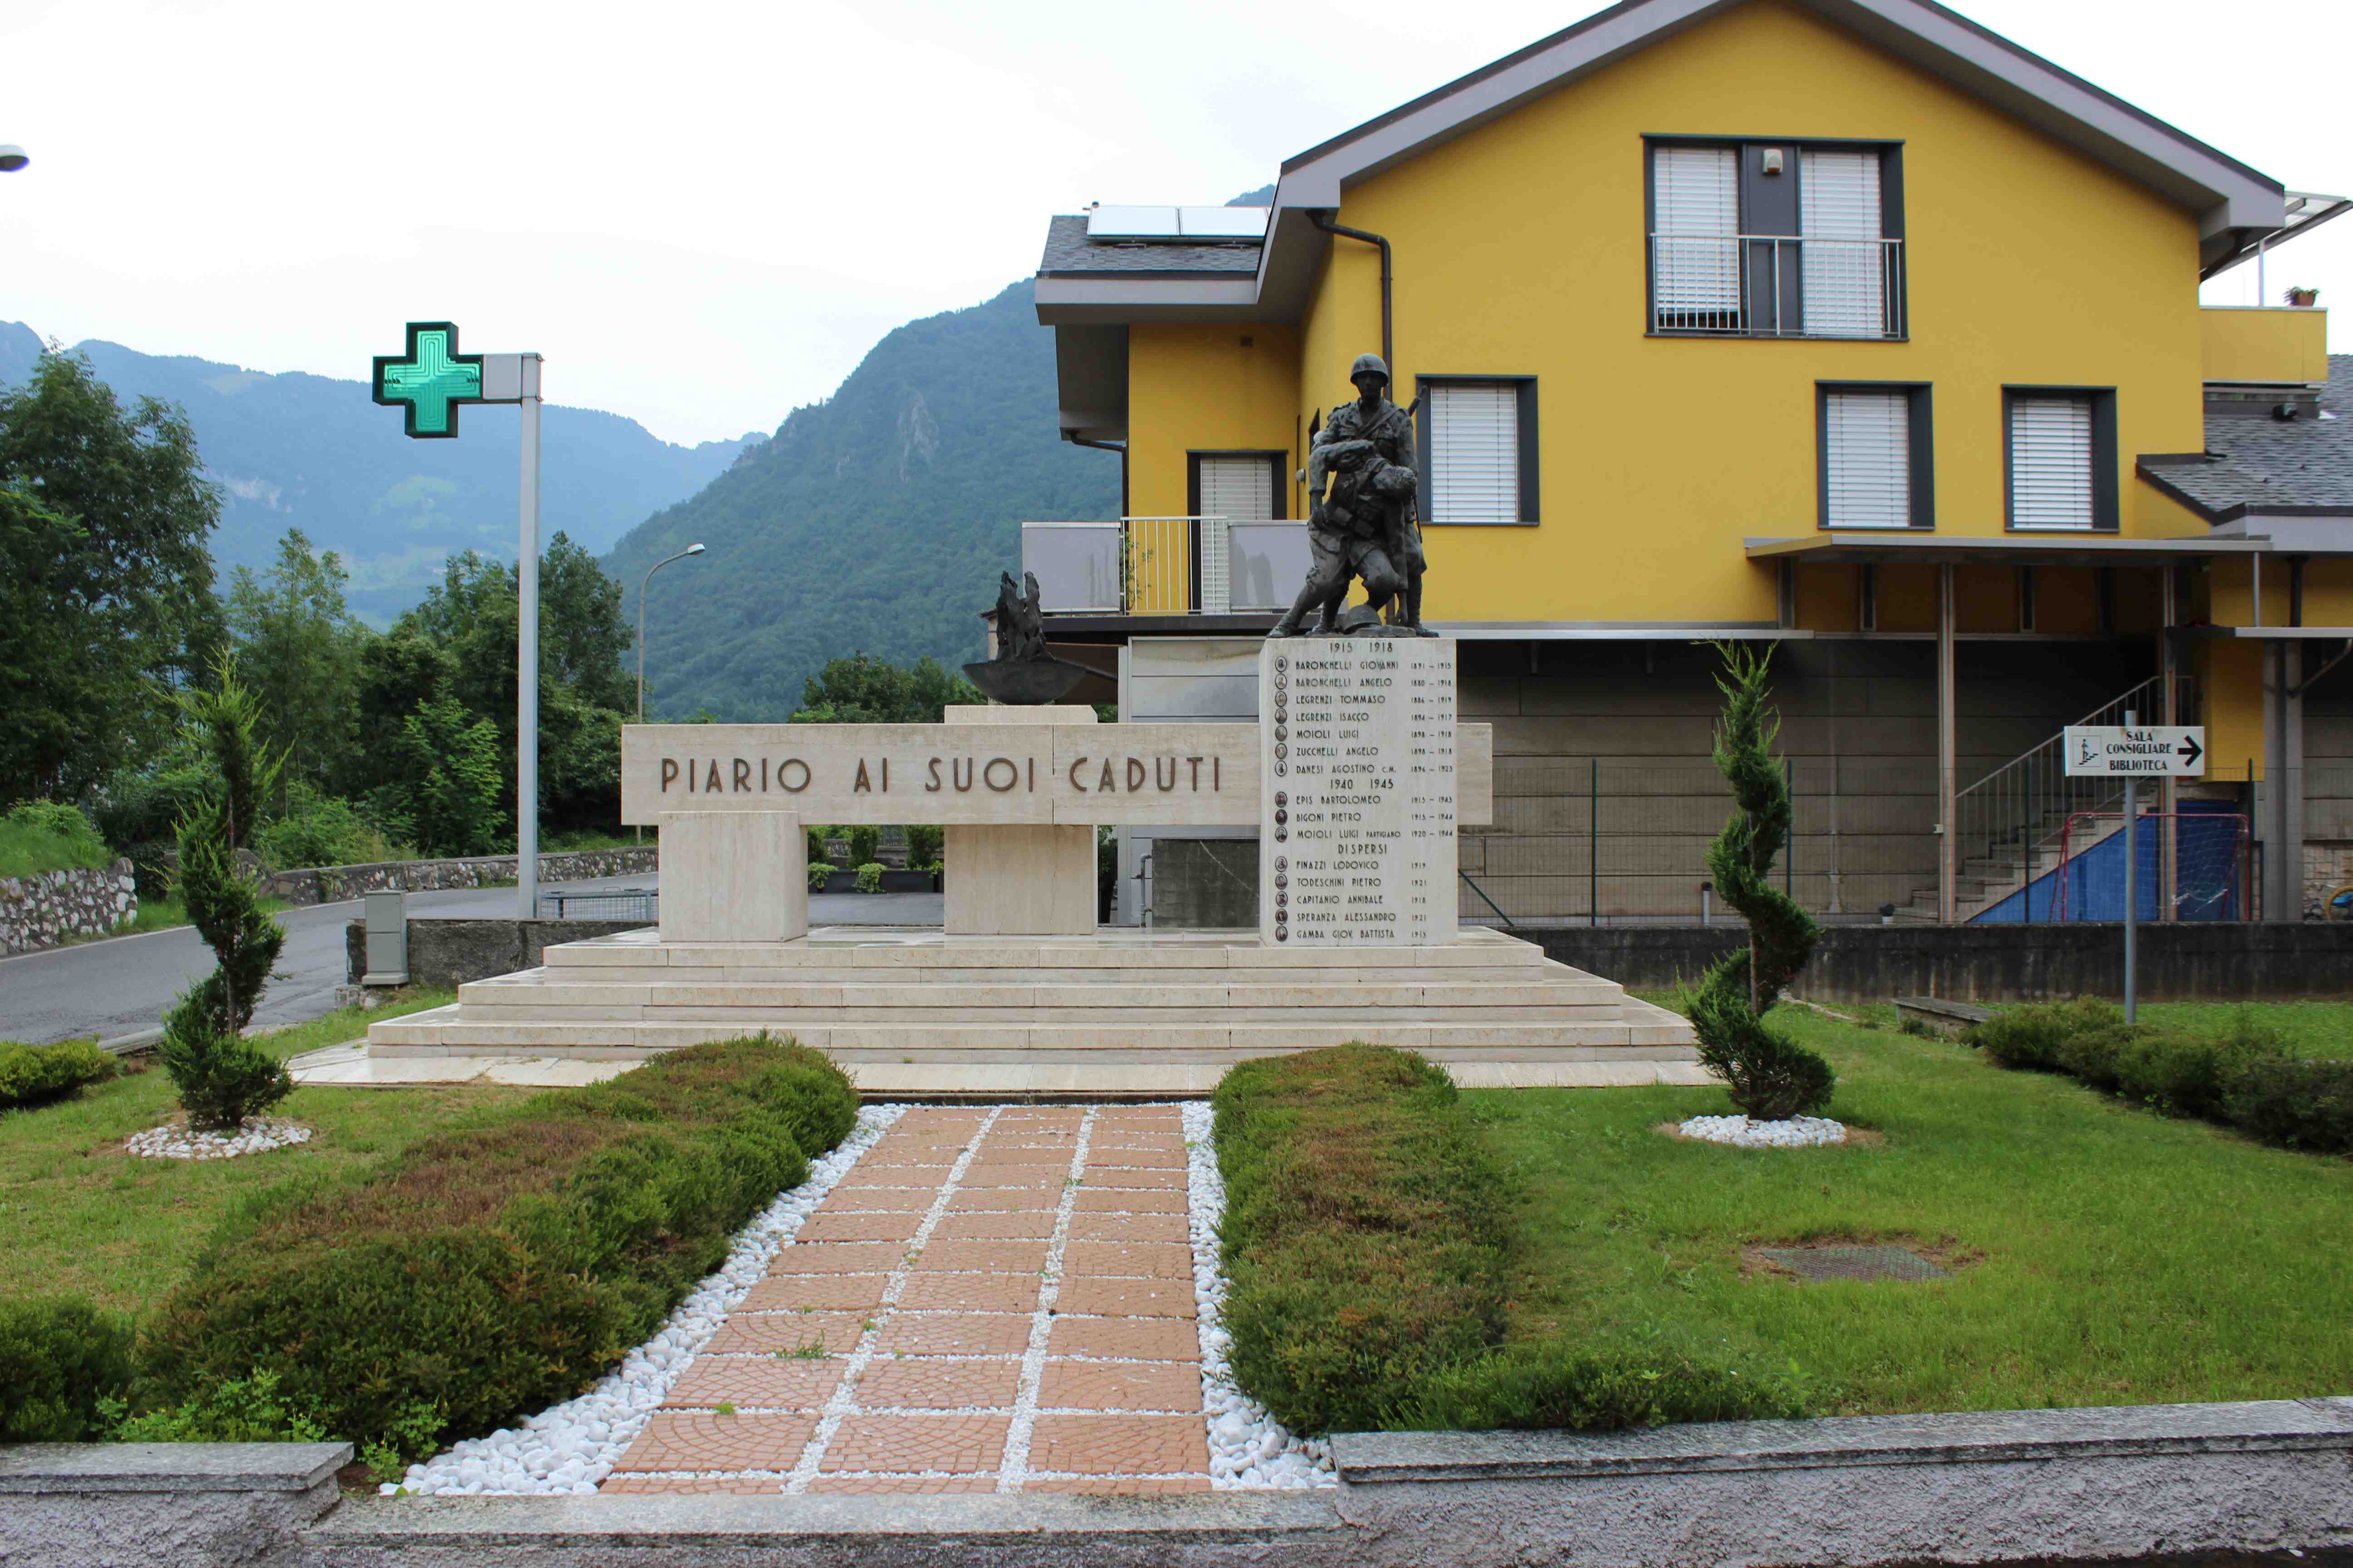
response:
[(2353, 1060), (2299, 1058), (2275, 1030), (2238, 1013), (2228, 1032), (2125, 1023), (2099, 1001), (2009, 1009), (1969, 1030), (2002, 1067), (2066, 1072), (2169, 1117), (2235, 1126), (2264, 1143), (2353, 1152)]

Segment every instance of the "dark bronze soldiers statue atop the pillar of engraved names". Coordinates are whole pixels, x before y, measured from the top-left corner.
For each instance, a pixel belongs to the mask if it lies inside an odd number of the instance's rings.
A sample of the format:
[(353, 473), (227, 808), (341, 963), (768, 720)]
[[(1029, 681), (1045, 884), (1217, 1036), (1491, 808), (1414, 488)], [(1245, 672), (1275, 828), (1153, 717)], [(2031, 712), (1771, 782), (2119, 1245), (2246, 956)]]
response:
[(1348, 378), (1355, 402), (1332, 409), (1308, 447), (1308, 581), (1268, 635), (1306, 637), (1311, 609), (1315, 635), (1339, 632), (1348, 583), (1362, 581), (1372, 604), (1402, 595), (1395, 630), (1435, 637), (1421, 625), (1414, 421), (1388, 400), (1381, 355), (1358, 355)]

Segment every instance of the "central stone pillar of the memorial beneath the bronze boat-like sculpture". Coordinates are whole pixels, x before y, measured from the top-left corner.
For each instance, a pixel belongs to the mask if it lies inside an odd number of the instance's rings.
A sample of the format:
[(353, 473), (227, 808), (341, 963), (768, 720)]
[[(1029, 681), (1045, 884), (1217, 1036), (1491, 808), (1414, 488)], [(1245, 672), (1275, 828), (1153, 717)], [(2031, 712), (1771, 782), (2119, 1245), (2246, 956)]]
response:
[[(953, 703), (946, 722), (1094, 724), (1094, 710)], [(1094, 936), (1092, 823), (948, 823), (946, 863), (948, 936)]]

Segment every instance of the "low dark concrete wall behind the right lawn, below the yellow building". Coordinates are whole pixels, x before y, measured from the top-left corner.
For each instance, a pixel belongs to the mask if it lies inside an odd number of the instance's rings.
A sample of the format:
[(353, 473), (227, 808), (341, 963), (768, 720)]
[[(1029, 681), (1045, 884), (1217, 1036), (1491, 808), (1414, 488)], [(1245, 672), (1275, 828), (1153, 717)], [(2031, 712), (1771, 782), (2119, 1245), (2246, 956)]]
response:
[[(1631, 990), (1697, 985), (1748, 940), (1737, 924), (1522, 929), (1562, 964)], [(2141, 1001), (2353, 997), (2353, 926), (2186, 922), (2141, 926)], [(2054, 1001), (2125, 994), (2115, 924), (1831, 926), (1791, 994), (1809, 1001)]]

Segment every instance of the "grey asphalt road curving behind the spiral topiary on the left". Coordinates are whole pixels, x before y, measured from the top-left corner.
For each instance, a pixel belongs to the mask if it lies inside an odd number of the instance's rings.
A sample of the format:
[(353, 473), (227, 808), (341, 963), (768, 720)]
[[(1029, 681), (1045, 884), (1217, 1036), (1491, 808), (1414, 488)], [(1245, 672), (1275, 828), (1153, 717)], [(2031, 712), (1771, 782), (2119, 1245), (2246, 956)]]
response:
[[(652, 884), (654, 877), (640, 872), (553, 882), (541, 891), (591, 893)], [(513, 912), (515, 889), (409, 893), (412, 917)], [(271, 980), (254, 1023), (304, 1023), (334, 1009), (334, 987), (344, 983), (344, 926), (358, 914), (358, 898), (278, 914), (278, 924), (287, 929), (285, 952), (278, 954), (280, 978)], [(209, 969), (212, 950), (193, 926), (0, 959), (0, 1039), (47, 1044), (75, 1034), (113, 1039), (153, 1030), (172, 999)]]

